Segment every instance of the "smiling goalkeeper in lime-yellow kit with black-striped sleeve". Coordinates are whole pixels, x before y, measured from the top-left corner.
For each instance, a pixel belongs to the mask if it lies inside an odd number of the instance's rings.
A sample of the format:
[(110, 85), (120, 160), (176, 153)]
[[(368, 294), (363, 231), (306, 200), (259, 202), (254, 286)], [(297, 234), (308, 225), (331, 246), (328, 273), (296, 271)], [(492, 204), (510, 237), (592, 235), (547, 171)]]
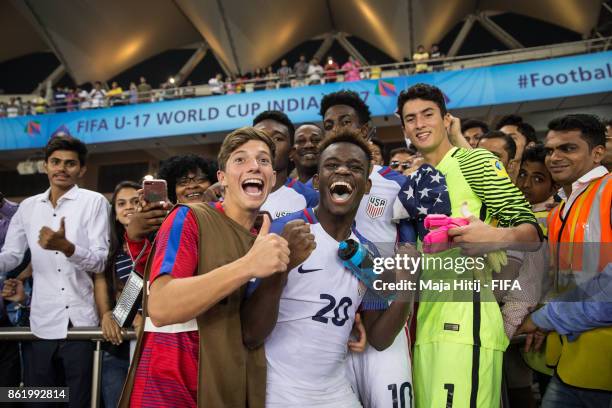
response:
[[(417, 84), (403, 91), (398, 113), (406, 139), (446, 178), (451, 215), (463, 216), (462, 208), (467, 207), (480, 216), (472, 215), (469, 225), (449, 230), (454, 242), (503, 247), (541, 239), (529, 203), (512, 184), (503, 164), (486, 150), (452, 146), (448, 138), (451, 116), (440, 89)], [(489, 225), (493, 218), (498, 228)], [(436, 278), (440, 272), (423, 271), (422, 279)], [(472, 302), (419, 304), (413, 372), (417, 408), (499, 404), (508, 338), (489, 292), (474, 291)], [(481, 301), (480, 296), (489, 301)]]

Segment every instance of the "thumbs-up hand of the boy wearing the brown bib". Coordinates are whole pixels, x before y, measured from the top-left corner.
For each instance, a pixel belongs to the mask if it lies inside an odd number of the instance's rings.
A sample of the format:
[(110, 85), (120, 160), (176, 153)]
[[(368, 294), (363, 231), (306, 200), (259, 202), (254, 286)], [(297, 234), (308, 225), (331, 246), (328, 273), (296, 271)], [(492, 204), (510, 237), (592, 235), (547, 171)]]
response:
[(245, 255), (246, 267), (254, 278), (285, 272), (289, 264), (289, 244), (281, 236), (270, 233), (270, 224), (270, 218), (264, 216), (257, 239)]

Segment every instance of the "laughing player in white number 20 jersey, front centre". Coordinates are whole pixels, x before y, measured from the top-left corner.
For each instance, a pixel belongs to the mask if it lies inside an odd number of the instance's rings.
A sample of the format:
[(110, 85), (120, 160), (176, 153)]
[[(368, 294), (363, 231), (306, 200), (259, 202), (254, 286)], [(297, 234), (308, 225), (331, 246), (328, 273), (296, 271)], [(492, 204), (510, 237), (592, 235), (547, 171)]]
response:
[[(326, 138), (320, 151), (313, 180), (320, 191), (319, 205), (278, 219), (271, 229), (280, 232), (296, 220), (307, 223), (316, 248), (289, 272), (278, 299), (278, 320), (265, 343), (267, 407), (360, 406), (345, 367), (347, 342), (366, 288), (344, 267), (338, 248), (346, 239), (364, 241), (354, 221), (370, 189), (372, 157), (362, 136), (351, 129)], [(383, 350), (393, 343), (410, 306), (409, 301), (396, 300), (385, 310), (363, 312), (374, 348)]]

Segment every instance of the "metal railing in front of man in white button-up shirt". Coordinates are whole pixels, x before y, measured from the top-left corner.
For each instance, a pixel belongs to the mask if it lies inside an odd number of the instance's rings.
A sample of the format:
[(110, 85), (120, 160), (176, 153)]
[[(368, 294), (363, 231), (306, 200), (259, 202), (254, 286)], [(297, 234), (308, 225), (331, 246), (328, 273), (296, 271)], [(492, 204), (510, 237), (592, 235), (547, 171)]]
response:
[[(135, 340), (136, 332), (132, 329), (122, 330), (123, 340)], [(42, 340), (36, 337), (29, 327), (3, 327), (0, 329), (0, 341)], [(64, 340), (64, 339), (62, 339)], [(96, 343), (93, 355), (93, 371), (91, 381), (91, 406), (100, 405), (100, 379), (102, 373), (102, 329), (100, 327), (73, 327), (68, 329), (65, 340), (91, 340)]]

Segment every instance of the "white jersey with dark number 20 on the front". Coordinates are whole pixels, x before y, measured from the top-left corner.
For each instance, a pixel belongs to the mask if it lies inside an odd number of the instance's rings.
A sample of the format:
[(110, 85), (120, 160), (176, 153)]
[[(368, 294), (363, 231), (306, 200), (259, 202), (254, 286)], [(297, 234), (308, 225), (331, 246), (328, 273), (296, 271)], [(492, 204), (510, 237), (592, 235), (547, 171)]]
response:
[[(316, 222), (311, 209), (293, 219), (310, 222), (316, 249), (289, 272), (278, 321), (266, 339), (267, 407), (360, 406), (345, 374), (349, 336), (365, 286), (342, 265), (339, 242)], [(351, 238), (357, 240), (353, 233)]]

